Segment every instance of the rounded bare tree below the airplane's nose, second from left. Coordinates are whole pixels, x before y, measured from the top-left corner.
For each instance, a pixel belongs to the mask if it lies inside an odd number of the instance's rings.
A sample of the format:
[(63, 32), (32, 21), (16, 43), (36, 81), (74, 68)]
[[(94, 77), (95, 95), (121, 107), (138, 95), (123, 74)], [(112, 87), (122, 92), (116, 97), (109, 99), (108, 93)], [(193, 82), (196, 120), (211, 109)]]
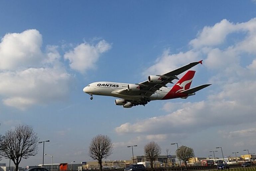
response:
[(88, 155), (94, 160), (98, 160), (99, 170), (102, 171), (102, 159), (110, 156), (113, 151), (113, 143), (107, 135), (97, 135), (92, 138)]

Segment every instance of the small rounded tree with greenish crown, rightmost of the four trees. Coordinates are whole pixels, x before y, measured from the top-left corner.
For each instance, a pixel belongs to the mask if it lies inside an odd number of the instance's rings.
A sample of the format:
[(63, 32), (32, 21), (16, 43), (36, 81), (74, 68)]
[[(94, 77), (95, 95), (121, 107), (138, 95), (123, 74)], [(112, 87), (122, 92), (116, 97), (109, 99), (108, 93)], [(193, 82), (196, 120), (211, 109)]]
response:
[(189, 161), (190, 158), (195, 156), (194, 150), (191, 147), (187, 147), (185, 145), (181, 146), (179, 149), (176, 150), (176, 155), (179, 159), (185, 162), (186, 167), (187, 161)]

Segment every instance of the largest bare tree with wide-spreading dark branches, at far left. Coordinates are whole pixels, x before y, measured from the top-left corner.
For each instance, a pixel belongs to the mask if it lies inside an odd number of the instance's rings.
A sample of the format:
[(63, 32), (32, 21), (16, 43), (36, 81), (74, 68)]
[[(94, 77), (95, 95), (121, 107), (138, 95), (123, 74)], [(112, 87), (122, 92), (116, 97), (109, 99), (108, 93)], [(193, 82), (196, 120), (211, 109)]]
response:
[(22, 125), (8, 130), (0, 142), (0, 154), (10, 158), (18, 171), (21, 159), (28, 159), (38, 152), (38, 137), (32, 127)]

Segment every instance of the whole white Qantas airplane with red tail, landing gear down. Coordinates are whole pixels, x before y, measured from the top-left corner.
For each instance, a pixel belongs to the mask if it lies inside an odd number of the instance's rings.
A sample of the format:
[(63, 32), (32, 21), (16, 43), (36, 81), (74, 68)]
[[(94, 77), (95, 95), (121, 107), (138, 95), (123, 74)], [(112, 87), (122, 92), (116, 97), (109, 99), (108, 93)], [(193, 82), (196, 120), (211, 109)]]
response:
[[(137, 105), (146, 105), (151, 100), (167, 100), (174, 98), (186, 99), (189, 96), (195, 95), (195, 92), (211, 85), (203, 84), (197, 87), (190, 88), (192, 78), (195, 71), (188, 71), (181, 79), (177, 75), (189, 70), (197, 64), (202, 64), (202, 60), (184, 65), (178, 69), (162, 75), (150, 75), (148, 80), (138, 83), (116, 83), (116, 82), (94, 82), (83, 88), (83, 92), (91, 96), (113, 96), (121, 99), (116, 99), (116, 105), (122, 105), (124, 108), (131, 108)], [(166, 84), (172, 83), (173, 80), (179, 80), (173, 87), (167, 87)]]

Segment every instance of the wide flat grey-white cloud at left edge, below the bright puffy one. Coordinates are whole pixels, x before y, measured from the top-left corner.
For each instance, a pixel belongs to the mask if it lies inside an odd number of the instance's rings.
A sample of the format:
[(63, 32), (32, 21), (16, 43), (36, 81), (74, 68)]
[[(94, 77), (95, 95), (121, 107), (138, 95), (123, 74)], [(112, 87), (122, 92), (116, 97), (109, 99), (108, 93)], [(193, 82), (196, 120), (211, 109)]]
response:
[(0, 73), (0, 95), (7, 106), (21, 110), (34, 104), (61, 100), (68, 93), (71, 75), (60, 68), (29, 68)]

